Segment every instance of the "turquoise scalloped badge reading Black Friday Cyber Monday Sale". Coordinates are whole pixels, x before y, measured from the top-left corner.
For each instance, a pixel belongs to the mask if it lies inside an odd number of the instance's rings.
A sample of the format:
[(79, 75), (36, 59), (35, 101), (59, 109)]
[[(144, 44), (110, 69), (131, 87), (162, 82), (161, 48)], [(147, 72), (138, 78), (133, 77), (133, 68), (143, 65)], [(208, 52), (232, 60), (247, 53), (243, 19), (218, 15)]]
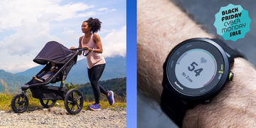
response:
[(250, 31), (251, 21), (248, 11), (242, 9), (242, 6), (229, 4), (221, 7), (215, 14), (214, 26), (218, 35), (223, 36), (225, 40), (237, 41)]

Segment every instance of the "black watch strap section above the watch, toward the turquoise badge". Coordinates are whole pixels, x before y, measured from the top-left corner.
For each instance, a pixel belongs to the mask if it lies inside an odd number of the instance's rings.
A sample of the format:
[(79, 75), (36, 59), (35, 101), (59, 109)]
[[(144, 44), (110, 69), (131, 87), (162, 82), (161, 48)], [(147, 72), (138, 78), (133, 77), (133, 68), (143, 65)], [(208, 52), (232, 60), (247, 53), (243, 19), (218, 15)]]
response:
[(213, 40), (215, 43), (218, 43), (218, 45), (220, 45), (223, 48), (223, 50), (225, 50), (225, 52), (231, 55), (233, 58), (240, 57), (240, 58), (245, 58), (247, 60), (247, 57), (245, 56), (244, 53), (242, 53), (241, 50), (236, 49), (233, 46), (228, 45), (228, 43), (225, 43), (217, 38), (213, 38), (210, 40)]

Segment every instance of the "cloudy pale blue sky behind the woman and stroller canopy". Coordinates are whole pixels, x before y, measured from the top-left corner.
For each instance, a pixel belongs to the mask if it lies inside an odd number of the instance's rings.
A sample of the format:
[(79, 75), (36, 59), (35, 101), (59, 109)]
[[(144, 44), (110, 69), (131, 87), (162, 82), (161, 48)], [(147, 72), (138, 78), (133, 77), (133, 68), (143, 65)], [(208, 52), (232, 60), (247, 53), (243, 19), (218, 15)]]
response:
[(0, 12), (0, 69), (6, 72), (37, 66), (33, 58), (49, 41), (78, 47), (82, 22), (90, 17), (102, 21), (102, 55), (126, 57), (125, 0), (1, 0)]

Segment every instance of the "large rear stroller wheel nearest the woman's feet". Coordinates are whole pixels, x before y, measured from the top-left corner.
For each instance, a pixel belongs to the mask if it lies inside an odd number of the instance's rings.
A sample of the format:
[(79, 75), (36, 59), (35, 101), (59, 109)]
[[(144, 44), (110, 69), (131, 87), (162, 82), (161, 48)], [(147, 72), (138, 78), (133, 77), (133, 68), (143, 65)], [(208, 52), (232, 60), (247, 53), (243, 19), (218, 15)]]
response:
[(69, 90), (65, 95), (65, 109), (70, 114), (78, 114), (82, 110), (83, 96), (77, 89)]

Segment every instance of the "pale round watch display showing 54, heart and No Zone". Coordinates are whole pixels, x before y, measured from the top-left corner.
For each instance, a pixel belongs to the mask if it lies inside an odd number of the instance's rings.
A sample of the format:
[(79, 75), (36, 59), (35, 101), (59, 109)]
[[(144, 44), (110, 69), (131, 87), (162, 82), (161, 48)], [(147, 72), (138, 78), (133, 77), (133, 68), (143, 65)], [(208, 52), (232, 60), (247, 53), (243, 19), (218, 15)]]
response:
[(203, 49), (191, 49), (183, 53), (175, 67), (178, 81), (193, 89), (208, 85), (215, 77), (216, 71), (214, 56)]

